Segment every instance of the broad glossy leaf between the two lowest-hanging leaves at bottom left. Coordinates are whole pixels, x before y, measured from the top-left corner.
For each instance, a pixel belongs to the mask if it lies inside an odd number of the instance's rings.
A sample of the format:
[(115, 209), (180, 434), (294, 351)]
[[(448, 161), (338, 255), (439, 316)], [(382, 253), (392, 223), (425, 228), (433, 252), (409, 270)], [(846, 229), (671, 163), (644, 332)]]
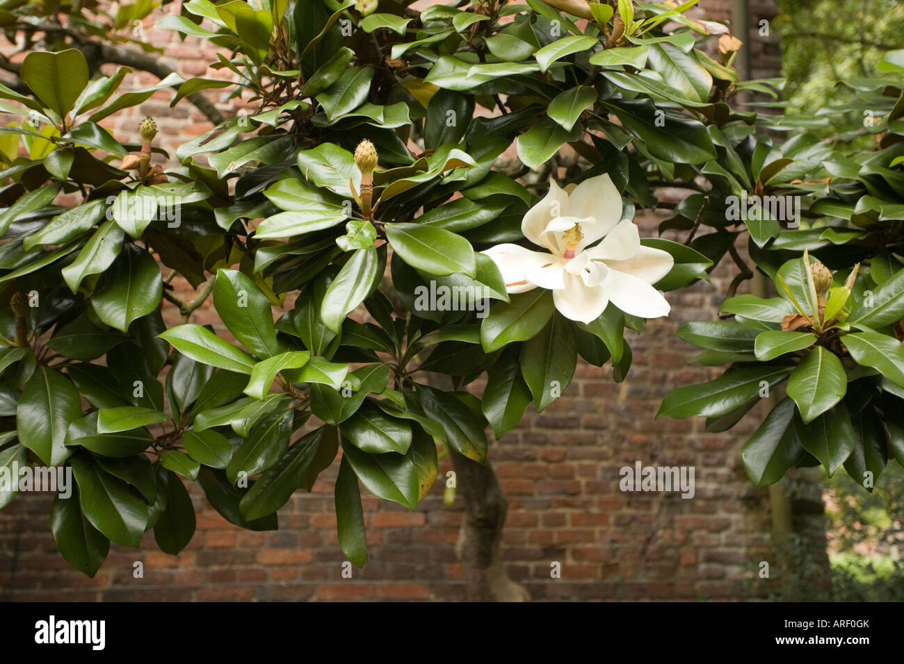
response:
[(89, 456), (73, 456), (70, 465), (85, 518), (117, 544), (137, 548), (147, 523), (146, 502)]

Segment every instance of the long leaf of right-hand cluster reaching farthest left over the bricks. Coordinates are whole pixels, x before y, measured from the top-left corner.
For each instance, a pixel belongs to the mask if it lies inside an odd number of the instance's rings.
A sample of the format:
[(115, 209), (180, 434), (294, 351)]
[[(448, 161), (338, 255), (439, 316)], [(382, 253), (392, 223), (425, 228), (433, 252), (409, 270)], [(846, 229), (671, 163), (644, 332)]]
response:
[(786, 366), (743, 367), (728, 369), (718, 379), (702, 385), (673, 389), (663, 399), (659, 416), (721, 417), (744, 406), (750, 399), (762, 396), (791, 373)]

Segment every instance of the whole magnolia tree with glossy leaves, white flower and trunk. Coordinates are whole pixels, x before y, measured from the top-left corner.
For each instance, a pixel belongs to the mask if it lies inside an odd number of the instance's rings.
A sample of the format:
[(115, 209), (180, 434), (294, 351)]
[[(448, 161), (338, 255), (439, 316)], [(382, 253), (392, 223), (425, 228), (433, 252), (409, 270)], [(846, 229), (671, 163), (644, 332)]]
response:
[[(870, 122), (826, 141), (807, 134), (825, 118), (736, 108), (780, 82), (740, 81), (739, 40), (684, 16), (693, 0), (412, 4), (191, 0), (156, 25), (219, 48), (222, 78), (189, 80), (117, 33), (143, 3), (0, 12), (30, 50), (0, 62), (17, 75), (0, 110), (18, 116), (0, 128), (0, 475), (71, 472), (51, 526), (72, 566), (94, 575), (110, 541), (149, 530), (178, 553), (185, 481), (231, 523), (277, 528), (333, 463), (339, 542), (363, 566), (360, 485), (415, 510), (449, 454), (469, 596), (523, 598), (488, 430), (548, 407), (579, 357), (625, 379), (625, 328), (723, 257), (734, 320), (679, 334), (731, 366), (661, 413), (725, 430), (787, 380), (744, 448), (753, 482), (844, 464), (871, 489), (889, 452), (904, 461), (895, 54), (826, 109)], [(127, 69), (99, 59), (163, 79), (119, 93)], [(153, 119), (132, 143), (99, 126), (158, 89), (216, 126), (174, 155)], [(219, 121), (212, 89), (254, 110)], [(874, 148), (852, 151), (863, 133)], [(680, 241), (640, 237), (636, 210), (657, 208)], [(778, 297), (735, 295), (745, 247)], [(208, 298), (234, 342), (191, 323)], [(183, 324), (167, 329), (164, 301)]]

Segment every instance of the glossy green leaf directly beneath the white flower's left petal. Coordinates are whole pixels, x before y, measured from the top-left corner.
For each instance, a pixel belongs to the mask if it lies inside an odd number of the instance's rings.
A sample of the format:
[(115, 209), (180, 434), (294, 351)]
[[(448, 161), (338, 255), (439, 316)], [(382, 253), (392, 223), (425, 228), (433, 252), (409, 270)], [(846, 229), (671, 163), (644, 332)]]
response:
[(545, 288), (512, 295), (510, 302), (495, 304), (480, 325), (484, 351), (498, 351), (506, 343), (532, 339), (546, 326), (553, 311), (552, 293)]

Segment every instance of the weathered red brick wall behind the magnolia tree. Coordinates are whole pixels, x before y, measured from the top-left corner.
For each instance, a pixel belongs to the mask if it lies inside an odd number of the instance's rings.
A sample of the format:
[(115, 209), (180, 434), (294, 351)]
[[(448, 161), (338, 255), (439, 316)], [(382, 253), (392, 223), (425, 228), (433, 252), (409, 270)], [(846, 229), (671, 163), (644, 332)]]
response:
[[(700, 15), (730, 16), (728, 2), (701, 5)], [(153, 30), (146, 35), (165, 47), (163, 61), (184, 76), (217, 75), (203, 65), (213, 53), (202, 44), (180, 43), (171, 33)], [(153, 82), (143, 73), (132, 77), (136, 87)], [(170, 109), (172, 95), (157, 93), (135, 113), (110, 118), (108, 126), (118, 138), (132, 138), (137, 119), (153, 116), (172, 154), (210, 126), (191, 105)], [(638, 222), (645, 236), (655, 235), (654, 215)], [(525, 417), (491, 444), (490, 458), (510, 501), (507, 570), (533, 598), (692, 600), (765, 592), (756, 571), (769, 556), (767, 495), (750, 484), (740, 465), (740, 445), (756, 418), (748, 416), (727, 434), (706, 433), (699, 418), (654, 419), (669, 388), (718, 374), (689, 365), (694, 349), (674, 331), (684, 322), (715, 317), (727, 276), (722, 268), (713, 284), (668, 295), (668, 319), (648, 323), (639, 337), (626, 332), (634, 366), (625, 382), (613, 382), (609, 368), (581, 363), (551, 407)], [(178, 295), (191, 295), (184, 282), (174, 285)], [(168, 324), (178, 323), (168, 304), (165, 317)], [(194, 313), (193, 322), (213, 323), (225, 334), (209, 304)], [(619, 468), (637, 460), (694, 466), (696, 495), (683, 500), (677, 493), (619, 491)], [(450, 467), (442, 459), (439, 477)], [(413, 513), (363, 491), (371, 560), (344, 579), (333, 513), (336, 470), (334, 463), (312, 493), (298, 492), (290, 500), (276, 532), (232, 527), (193, 488), (197, 532), (181, 555), (166, 556), (147, 535), (138, 550), (111, 547), (94, 579), (72, 571), (57, 553), (50, 497), (19, 496), (0, 512), (0, 600), (464, 598), (453, 549), (461, 498), (445, 506), (440, 480)], [(143, 578), (133, 576), (136, 561), (144, 564)], [(561, 578), (551, 578), (552, 562), (561, 564)]]

